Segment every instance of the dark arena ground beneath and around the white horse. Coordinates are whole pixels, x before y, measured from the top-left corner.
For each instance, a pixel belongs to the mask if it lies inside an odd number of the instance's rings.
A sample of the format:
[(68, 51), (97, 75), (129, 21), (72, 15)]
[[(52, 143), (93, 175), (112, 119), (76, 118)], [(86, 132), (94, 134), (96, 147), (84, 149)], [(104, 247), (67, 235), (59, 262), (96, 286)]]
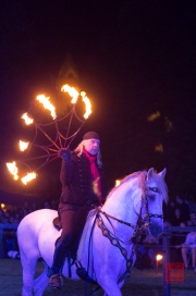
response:
[[(42, 269), (42, 263), (38, 262), (37, 273)], [(91, 288), (87, 286), (88, 295)], [(21, 296), (22, 289), (22, 267), (19, 259), (0, 259), (0, 295)], [(185, 271), (185, 279), (181, 283), (171, 283), (163, 288), (162, 267), (158, 270), (132, 269), (132, 275), (122, 287), (123, 296), (194, 296), (196, 295), (196, 272)], [(61, 291), (47, 287), (44, 296), (84, 296), (85, 283), (83, 281), (74, 282), (64, 279), (64, 285)], [(87, 294), (86, 294), (87, 295)], [(102, 296), (102, 289), (98, 289), (95, 296)], [(113, 295), (114, 296), (114, 295)]]

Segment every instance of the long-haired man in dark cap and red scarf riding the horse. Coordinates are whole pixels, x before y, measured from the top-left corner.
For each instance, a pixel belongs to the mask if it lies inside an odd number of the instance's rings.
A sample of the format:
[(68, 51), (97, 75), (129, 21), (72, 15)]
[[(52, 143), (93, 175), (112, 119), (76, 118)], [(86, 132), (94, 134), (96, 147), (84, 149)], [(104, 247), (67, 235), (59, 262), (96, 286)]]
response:
[(101, 206), (108, 194), (99, 146), (99, 135), (88, 132), (74, 151), (71, 152), (69, 148), (59, 151), (62, 158), (62, 194), (58, 212), (62, 233), (56, 242), (53, 263), (48, 270), (49, 285), (54, 288), (62, 286), (61, 270), (68, 251), (71, 250), (75, 258), (91, 205)]

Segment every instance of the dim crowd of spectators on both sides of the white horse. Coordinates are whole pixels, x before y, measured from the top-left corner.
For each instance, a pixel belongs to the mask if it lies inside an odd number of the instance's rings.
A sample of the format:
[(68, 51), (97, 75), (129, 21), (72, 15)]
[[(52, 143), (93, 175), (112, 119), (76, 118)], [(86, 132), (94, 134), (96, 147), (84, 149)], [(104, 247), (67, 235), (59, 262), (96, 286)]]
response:
[[(5, 208), (7, 209), (7, 208)], [(38, 209), (58, 209), (58, 200), (45, 201), (41, 207), (36, 202), (26, 201), (23, 207), (12, 206), (7, 210), (0, 208), (0, 224), (19, 224), (28, 213)], [(196, 203), (181, 196), (176, 196), (167, 205), (163, 205), (164, 226), (196, 226)], [(17, 258), (16, 235), (5, 232), (5, 248), (9, 257)], [(195, 239), (195, 240), (194, 240)], [(195, 245), (194, 245), (195, 242)], [(193, 245), (191, 248), (191, 244)], [(136, 266), (139, 269), (155, 268), (156, 255), (162, 250), (162, 242), (151, 236), (142, 235), (137, 242)], [(173, 233), (170, 239), (170, 258), (173, 262), (184, 262), (185, 268), (196, 271), (196, 233), (177, 232)], [(189, 260), (191, 256), (192, 259)]]

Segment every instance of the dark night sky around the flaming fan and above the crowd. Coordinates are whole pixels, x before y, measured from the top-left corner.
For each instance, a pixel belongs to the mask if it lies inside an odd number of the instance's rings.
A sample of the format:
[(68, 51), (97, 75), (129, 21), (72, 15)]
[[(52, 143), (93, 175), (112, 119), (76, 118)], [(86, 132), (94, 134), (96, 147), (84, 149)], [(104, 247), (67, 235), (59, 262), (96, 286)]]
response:
[[(95, 110), (77, 139), (88, 130), (100, 134), (109, 184), (134, 171), (167, 168), (170, 195), (194, 198), (195, 7), (188, 0), (1, 1), (0, 187), (59, 196), (58, 169), (42, 170), (36, 192), (35, 183), (25, 189), (13, 184), (4, 162), (23, 133), (21, 114), (38, 91), (54, 94), (69, 53)], [(160, 118), (148, 122), (156, 111)], [(159, 144), (163, 152), (155, 151)]]

